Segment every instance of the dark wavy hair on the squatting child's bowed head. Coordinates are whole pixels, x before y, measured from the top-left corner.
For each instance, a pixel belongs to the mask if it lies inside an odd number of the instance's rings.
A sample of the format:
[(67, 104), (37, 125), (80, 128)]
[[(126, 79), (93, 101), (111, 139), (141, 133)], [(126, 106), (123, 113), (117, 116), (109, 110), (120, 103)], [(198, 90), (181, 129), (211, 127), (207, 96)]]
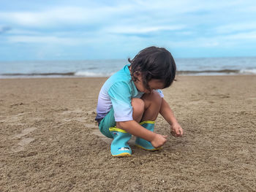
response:
[(138, 72), (142, 75), (143, 85), (148, 88), (152, 79), (162, 80), (165, 87), (169, 87), (176, 75), (176, 64), (173, 56), (162, 47), (147, 47), (141, 50), (135, 58), (128, 58), (132, 80), (137, 81)]

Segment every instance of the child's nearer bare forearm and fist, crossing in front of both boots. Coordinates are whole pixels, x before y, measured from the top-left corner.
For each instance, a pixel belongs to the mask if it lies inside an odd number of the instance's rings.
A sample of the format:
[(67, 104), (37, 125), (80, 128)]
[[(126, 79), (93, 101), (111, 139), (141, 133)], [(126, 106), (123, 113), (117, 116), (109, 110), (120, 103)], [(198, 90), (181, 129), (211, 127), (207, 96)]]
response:
[(161, 147), (166, 142), (167, 136), (162, 136), (161, 134), (156, 134), (152, 131), (149, 131), (148, 129), (143, 128), (143, 126), (140, 126), (140, 124), (135, 120), (116, 122), (116, 126), (129, 132), (129, 134), (140, 137), (142, 139), (146, 139), (156, 148)]

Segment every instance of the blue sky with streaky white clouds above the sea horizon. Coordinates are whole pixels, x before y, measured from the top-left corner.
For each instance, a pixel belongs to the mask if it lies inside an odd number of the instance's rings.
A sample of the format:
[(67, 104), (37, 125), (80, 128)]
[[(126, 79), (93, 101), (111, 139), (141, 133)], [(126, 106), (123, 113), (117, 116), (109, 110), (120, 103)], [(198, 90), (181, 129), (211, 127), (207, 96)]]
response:
[(0, 61), (256, 56), (252, 0), (0, 0)]

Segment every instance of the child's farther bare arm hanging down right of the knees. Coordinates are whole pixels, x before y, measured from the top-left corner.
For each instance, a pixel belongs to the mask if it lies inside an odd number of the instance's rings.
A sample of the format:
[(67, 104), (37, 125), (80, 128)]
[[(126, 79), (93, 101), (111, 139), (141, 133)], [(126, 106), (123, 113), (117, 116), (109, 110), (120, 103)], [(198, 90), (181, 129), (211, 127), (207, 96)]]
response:
[(169, 123), (169, 125), (172, 128), (172, 134), (175, 137), (181, 137), (183, 134), (183, 129), (181, 126), (178, 124), (178, 121), (173, 115), (173, 111), (170, 109), (169, 104), (165, 99), (162, 98), (162, 105), (160, 108), (160, 114), (162, 115), (163, 118)]

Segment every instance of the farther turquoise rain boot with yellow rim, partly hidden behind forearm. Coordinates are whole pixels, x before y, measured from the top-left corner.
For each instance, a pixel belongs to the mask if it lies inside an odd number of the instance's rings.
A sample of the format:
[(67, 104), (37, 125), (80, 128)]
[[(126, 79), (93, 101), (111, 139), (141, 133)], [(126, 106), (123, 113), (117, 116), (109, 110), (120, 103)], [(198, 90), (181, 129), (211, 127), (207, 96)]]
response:
[[(154, 121), (151, 120), (146, 120), (140, 123), (140, 126), (143, 126), (144, 128), (148, 129), (149, 131), (154, 131)], [(140, 137), (137, 137), (137, 139), (135, 140), (135, 145), (137, 147), (142, 148), (143, 150), (160, 150), (162, 147), (158, 147), (155, 148), (153, 147), (153, 145), (151, 144), (151, 142), (148, 142), (145, 139), (141, 139)]]

